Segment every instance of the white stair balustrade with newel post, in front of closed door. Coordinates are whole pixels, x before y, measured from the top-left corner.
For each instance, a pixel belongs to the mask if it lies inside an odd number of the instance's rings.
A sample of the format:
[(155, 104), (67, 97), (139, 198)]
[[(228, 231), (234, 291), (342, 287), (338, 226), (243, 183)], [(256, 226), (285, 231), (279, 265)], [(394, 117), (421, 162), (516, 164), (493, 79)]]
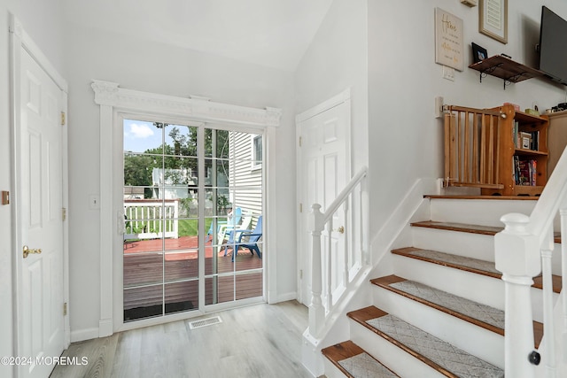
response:
[[(322, 336), (327, 318), (346, 293), (348, 284), (356, 279), (361, 266), (369, 264), (367, 174), (367, 168), (362, 168), (324, 213), (321, 204), (312, 205), (309, 225), (313, 235), (312, 300), (307, 333), (314, 339)], [(355, 196), (357, 188), (360, 190)], [(358, 205), (357, 212), (351, 212), (353, 205)], [(353, 214), (358, 219), (353, 219)], [(351, 229), (357, 229), (357, 235)]]

